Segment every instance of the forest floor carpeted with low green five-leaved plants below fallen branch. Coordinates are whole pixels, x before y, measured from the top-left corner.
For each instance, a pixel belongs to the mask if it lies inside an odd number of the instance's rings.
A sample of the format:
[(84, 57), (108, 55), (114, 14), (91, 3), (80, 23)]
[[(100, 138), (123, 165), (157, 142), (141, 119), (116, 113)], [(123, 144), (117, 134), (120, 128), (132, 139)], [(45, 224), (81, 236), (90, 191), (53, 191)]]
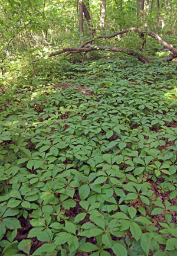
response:
[(112, 57), (58, 58), (12, 81), (1, 255), (177, 255), (176, 78), (176, 63)]

